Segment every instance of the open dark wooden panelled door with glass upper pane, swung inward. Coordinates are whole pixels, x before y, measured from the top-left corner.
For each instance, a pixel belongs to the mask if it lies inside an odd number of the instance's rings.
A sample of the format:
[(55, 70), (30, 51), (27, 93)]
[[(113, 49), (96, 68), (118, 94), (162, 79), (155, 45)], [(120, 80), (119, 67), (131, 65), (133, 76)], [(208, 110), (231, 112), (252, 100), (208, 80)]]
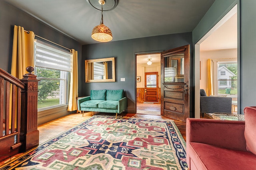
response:
[(189, 45), (161, 53), (161, 115), (186, 122), (189, 117)]

